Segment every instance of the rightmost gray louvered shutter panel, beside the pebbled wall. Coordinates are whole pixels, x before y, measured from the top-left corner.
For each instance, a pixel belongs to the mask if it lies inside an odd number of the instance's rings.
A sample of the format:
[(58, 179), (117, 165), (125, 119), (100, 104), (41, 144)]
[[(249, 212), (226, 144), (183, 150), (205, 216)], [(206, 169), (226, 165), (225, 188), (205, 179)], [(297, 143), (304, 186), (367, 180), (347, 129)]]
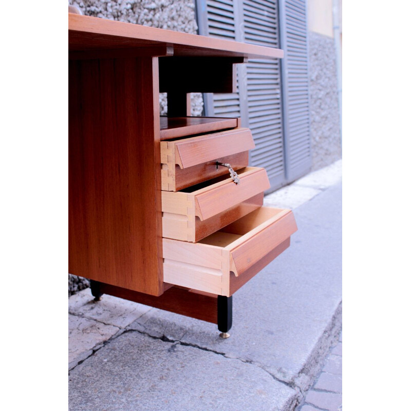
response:
[(279, 0), (287, 181), (311, 168), (306, 0)]

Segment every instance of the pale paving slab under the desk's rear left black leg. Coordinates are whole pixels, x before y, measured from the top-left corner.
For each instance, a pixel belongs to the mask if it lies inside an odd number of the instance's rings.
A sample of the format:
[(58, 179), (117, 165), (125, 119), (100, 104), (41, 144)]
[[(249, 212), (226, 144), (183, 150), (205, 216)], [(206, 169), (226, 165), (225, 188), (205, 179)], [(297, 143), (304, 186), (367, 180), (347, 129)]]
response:
[(104, 295), (101, 301), (95, 302), (89, 288), (71, 296), (68, 302), (69, 313), (120, 328), (126, 327), (151, 309), (152, 307), (113, 295)]

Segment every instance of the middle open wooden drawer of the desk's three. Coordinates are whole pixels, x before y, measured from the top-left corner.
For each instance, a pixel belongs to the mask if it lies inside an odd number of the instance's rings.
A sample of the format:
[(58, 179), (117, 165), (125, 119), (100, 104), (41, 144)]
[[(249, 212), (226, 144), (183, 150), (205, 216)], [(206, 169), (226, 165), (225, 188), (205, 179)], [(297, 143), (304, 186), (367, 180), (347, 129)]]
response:
[(239, 184), (226, 171), (183, 191), (162, 191), (163, 237), (199, 241), (262, 206), (263, 192), (270, 187), (267, 172), (245, 167), (238, 176)]

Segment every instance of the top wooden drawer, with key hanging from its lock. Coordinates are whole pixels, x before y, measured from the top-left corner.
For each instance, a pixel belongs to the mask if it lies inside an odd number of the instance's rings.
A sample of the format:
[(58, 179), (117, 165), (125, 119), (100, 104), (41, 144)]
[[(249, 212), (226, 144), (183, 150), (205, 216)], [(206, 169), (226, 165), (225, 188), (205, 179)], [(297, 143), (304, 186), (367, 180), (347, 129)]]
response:
[(216, 161), (241, 169), (248, 165), (248, 151), (254, 147), (249, 128), (162, 141), (161, 190), (179, 191), (226, 174), (227, 168), (217, 168)]

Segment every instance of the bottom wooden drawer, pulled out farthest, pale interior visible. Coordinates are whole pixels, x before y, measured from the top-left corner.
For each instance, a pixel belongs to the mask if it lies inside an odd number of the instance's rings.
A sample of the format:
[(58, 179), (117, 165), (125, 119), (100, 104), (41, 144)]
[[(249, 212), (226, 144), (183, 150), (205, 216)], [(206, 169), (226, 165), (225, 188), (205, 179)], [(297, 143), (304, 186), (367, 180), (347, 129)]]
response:
[(261, 207), (191, 243), (163, 238), (164, 282), (229, 296), (290, 245), (290, 210)]

